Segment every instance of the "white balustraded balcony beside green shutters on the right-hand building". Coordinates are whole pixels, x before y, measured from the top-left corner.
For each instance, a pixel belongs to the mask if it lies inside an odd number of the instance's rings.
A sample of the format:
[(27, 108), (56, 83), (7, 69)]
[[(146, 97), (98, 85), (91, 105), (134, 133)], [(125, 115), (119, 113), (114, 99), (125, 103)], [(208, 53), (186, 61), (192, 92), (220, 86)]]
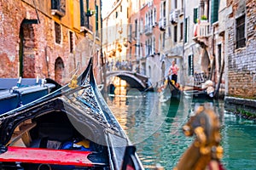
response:
[(202, 20), (199, 24), (194, 27), (193, 40), (201, 45), (208, 46), (210, 24), (207, 20)]

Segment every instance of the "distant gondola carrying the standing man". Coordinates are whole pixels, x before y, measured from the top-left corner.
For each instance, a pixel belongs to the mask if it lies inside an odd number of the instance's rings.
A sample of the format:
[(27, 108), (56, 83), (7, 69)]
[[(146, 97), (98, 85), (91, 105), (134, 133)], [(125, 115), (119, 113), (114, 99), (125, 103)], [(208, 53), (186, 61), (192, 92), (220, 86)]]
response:
[(166, 102), (170, 99), (180, 99), (181, 91), (172, 83), (171, 79), (168, 77), (165, 84), (158, 90), (160, 101)]

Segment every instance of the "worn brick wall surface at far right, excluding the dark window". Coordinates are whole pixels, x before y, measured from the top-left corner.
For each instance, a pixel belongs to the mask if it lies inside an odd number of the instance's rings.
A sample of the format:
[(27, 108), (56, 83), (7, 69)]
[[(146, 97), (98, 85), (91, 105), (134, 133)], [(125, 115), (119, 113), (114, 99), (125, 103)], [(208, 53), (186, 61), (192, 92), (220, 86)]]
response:
[[(237, 6), (236, 4), (233, 4)], [(246, 1), (246, 47), (236, 49), (236, 16), (233, 11), (228, 27), (228, 94), (241, 97), (256, 97), (256, 33), (253, 0)], [(254, 10), (254, 11), (253, 11)]]

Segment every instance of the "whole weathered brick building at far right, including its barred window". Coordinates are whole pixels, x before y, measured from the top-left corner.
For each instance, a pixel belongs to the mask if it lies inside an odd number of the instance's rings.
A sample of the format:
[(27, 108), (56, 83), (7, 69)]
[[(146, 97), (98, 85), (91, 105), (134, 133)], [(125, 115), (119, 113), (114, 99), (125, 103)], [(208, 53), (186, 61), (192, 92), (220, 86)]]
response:
[(227, 1), (226, 94), (256, 98), (256, 3), (253, 0)]

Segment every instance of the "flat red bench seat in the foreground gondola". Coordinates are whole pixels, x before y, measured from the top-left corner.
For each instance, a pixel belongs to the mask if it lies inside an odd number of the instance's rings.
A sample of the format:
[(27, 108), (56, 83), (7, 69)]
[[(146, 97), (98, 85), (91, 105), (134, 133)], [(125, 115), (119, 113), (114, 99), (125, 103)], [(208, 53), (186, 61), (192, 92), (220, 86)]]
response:
[(8, 150), (0, 155), (0, 161), (47, 163), (53, 165), (73, 165), (83, 167), (105, 165), (105, 163), (102, 162), (90, 161), (88, 159), (90, 154), (92, 154), (91, 151), (49, 150), (9, 146)]

